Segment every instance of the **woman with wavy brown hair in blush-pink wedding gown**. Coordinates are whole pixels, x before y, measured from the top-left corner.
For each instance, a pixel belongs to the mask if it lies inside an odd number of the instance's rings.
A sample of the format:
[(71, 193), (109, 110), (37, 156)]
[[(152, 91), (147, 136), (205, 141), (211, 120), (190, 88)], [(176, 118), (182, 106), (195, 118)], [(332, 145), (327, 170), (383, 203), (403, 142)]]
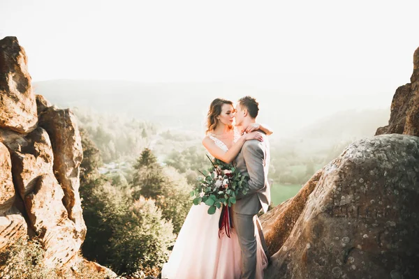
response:
[[(247, 140), (263, 141), (256, 130), (267, 135), (272, 132), (255, 123), (242, 129), (244, 135), (233, 126), (235, 110), (230, 100), (216, 98), (210, 105), (207, 116), (207, 135), (203, 139), (205, 149), (219, 160), (231, 163)], [(235, 279), (240, 278), (242, 254), (235, 229), (230, 238), (226, 234), (219, 237), (221, 209), (209, 215), (205, 203), (193, 205), (177, 236), (170, 258), (163, 265), (161, 278), (168, 279)], [(256, 219), (255, 222), (258, 222)], [(267, 266), (265, 244), (261, 243), (255, 225), (257, 239), (257, 278), (263, 278)]]

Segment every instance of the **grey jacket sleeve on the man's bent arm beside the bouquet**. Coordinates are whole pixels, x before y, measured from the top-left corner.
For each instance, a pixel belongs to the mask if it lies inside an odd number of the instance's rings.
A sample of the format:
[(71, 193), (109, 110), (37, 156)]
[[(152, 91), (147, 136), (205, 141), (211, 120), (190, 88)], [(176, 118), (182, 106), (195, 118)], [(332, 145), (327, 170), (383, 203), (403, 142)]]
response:
[(236, 199), (252, 195), (265, 187), (265, 153), (260, 144), (253, 141), (249, 142), (249, 144), (243, 147), (242, 153), (244, 162), (246, 162), (247, 172), (249, 173), (249, 190), (246, 195), (240, 192)]

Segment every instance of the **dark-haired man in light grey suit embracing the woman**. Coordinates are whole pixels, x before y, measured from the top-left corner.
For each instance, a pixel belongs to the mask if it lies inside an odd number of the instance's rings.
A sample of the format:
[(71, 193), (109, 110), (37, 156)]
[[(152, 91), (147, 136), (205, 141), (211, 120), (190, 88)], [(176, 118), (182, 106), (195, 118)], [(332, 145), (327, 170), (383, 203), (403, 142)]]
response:
[[(249, 126), (256, 123), (258, 103), (249, 96), (241, 98), (236, 107), (235, 120), (237, 126)], [(256, 214), (263, 209), (266, 213), (270, 204), (270, 186), (267, 183), (267, 170), (270, 163), (270, 146), (267, 136), (263, 142), (248, 140), (235, 159), (235, 165), (242, 174), (249, 174), (249, 190), (246, 195), (237, 195), (237, 202), (233, 204), (233, 227), (237, 232), (242, 249), (241, 278), (256, 277), (256, 236), (255, 223), (258, 227), (260, 242), (267, 254), (267, 248), (260, 222)], [(256, 220), (256, 222), (253, 222)]]

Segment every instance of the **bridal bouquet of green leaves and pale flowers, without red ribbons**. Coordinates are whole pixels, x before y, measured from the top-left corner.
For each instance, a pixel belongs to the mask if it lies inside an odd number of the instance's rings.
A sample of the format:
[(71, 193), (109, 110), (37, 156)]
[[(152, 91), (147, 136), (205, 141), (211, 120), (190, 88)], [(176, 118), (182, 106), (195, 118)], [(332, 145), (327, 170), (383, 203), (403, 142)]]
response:
[(248, 190), (248, 175), (241, 174), (232, 164), (224, 163), (219, 159), (211, 160), (212, 166), (200, 172), (196, 186), (191, 191), (193, 204), (201, 202), (210, 206), (208, 214), (214, 214), (222, 205), (235, 204), (237, 195), (242, 192), (246, 195)]

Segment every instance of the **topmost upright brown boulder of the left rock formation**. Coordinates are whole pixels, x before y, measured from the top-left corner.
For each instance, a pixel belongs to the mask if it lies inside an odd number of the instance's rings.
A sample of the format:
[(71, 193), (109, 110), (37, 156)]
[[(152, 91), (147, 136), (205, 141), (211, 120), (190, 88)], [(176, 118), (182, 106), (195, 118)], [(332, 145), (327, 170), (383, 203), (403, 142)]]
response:
[(0, 40), (0, 128), (29, 133), (36, 128), (35, 95), (27, 56), (15, 37)]

